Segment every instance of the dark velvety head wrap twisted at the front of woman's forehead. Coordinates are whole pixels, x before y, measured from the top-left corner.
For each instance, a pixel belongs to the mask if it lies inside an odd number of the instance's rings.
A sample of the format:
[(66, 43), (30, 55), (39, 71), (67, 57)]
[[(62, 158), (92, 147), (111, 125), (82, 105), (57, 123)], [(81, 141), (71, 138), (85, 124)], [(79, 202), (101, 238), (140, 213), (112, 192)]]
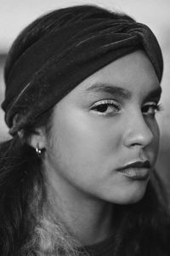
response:
[(83, 79), (141, 48), (161, 81), (161, 49), (148, 26), (94, 17), (48, 32), (20, 55), (9, 73), (2, 108), (10, 133), (34, 122)]

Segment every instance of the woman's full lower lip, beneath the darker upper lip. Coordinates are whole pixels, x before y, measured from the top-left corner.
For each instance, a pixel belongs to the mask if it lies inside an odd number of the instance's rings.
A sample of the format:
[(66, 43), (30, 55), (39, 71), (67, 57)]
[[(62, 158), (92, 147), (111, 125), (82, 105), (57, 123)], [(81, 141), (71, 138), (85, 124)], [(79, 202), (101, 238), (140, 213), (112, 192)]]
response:
[(150, 176), (150, 169), (148, 168), (127, 168), (120, 170), (119, 172), (121, 172), (122, 175), (135, 180), (146, 180)]

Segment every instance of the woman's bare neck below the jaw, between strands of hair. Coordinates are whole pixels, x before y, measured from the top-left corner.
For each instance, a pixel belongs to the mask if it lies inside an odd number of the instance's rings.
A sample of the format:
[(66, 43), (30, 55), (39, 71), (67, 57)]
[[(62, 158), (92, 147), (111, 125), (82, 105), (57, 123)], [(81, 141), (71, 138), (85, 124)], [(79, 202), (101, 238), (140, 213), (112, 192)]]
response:
[(46, 188), (54, 214), (83, 246), (111, 236), (113, 204), (86, 195), (49, 175)]

